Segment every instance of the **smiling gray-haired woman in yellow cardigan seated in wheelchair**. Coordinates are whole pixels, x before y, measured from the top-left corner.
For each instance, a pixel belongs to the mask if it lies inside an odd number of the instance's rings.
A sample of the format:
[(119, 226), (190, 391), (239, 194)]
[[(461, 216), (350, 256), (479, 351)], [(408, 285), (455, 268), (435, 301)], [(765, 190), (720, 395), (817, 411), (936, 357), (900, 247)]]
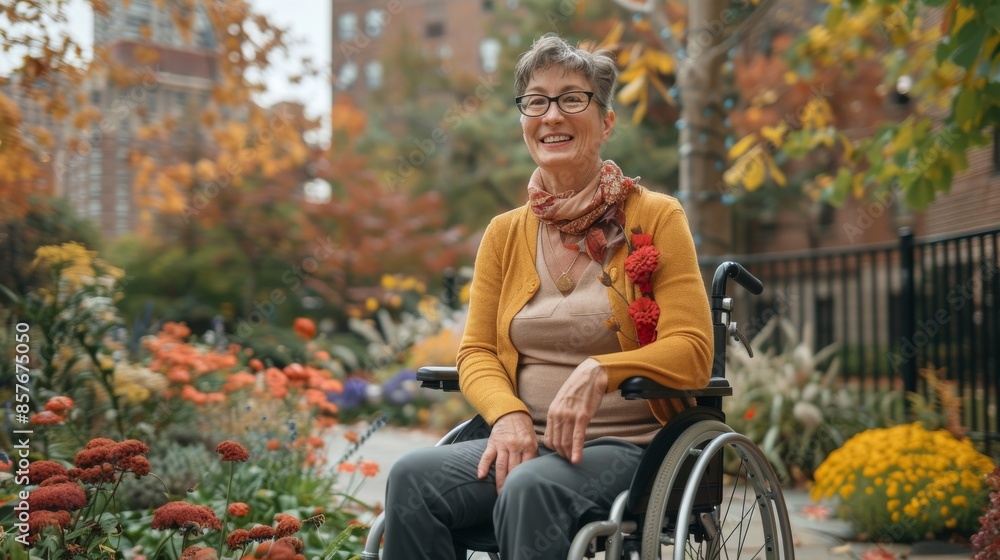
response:
[(455, 558), (464, 546), (566, 557), (680, 410), (626, 401), (618, 385), (708, 381), (708, 298), (684, 212), (601, 158), (616, 81), (610, 53), (555, 35), (517, 64), (514, 103), (538, 167), (528, 203), (483, 234), (458, 353), (462, 392), (492, 431), (393, 466), (385, 560)]

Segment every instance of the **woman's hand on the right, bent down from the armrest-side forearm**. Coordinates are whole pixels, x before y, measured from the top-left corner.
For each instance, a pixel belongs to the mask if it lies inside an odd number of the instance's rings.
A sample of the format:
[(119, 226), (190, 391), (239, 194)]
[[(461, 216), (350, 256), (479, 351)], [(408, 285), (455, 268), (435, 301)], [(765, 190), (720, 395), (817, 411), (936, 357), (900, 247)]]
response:
[(590, 419), (597, 413), (608, 389), (608, 372), (600, 362), (587, 358), (576, 366), (549, 406), (545, 446), (578, 464)]

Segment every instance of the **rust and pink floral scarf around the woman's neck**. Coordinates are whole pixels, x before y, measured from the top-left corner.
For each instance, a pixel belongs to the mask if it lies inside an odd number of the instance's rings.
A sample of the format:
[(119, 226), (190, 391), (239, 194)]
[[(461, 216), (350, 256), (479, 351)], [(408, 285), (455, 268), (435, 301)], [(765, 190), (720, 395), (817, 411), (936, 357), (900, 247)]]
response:
[(582, 190), (553, 194), (542, 184), (541, 170), (536, 169), (528, 180), (528, 200), (539, 220), (563, 233), (583, 234), (581, 250), (607, 264), (605, 259), (625, 242), (622, 205), (638, 179), (626, 177), (609, 159)]

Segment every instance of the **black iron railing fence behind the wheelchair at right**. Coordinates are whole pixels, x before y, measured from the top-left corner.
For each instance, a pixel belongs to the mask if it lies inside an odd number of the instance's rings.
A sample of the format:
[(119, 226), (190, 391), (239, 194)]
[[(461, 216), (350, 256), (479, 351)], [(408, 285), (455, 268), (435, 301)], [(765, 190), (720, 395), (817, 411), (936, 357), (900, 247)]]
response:
[[(764, 283), (736, 298), (752, 337), (778, 315), (814, 350), (839, 345), (841, 375), (867, 395), (924, 391), (920, 368), (945, 368), (963, 425), (1000, 446), (1000, 229), (858, 248), (736, 257)], [(703, 272), (721, 260), (703, 259)], [(735, 291), (735, 288), (733, 289)]]

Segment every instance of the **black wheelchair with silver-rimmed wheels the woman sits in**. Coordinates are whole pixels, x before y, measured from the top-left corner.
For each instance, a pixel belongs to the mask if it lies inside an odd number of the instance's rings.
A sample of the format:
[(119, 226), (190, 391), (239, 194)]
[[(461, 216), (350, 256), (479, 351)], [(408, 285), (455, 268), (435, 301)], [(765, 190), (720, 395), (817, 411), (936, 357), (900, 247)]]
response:
[[(715, 356), (707, 387), (681, 391), (645, 377), (633, 377), (619, 390), (627, 399), (691, 398), (696, 403), (672, 418), (646, 448), (627, 490), (618, 495), (607, 519), (585, 524), (574, 537), (569, 560), (696, 559), (784, 560), (795, 557), (788, 510), (780, 481), (763, 452), (725, 424), (722, 398), (733, 394), (725, 378), (730, 337), (753, 356), (746, 337), (731, 321), (733, 300), (728, 279), (753, 294), (763, 285), (742, 265), (726, 261), (712, 278), (710, 307)], [(417, 373), (423, 387), (458, 391), (456, 368), (425, 367)], [(455, 427), (437, 445), (489, 436), (479, 416)], [(372, 523), (362, 560), (377, 560), (384, 514)], [(455, 536), (459, 546), (461, 534)], [(473, 550), (475, 550), (473, 548)], [(500, 560), (496, 550), (486, 552)], [(460, 557), (464, 557), (460, 552)], [(513, 559), (508, 559), (513, 560)]]

